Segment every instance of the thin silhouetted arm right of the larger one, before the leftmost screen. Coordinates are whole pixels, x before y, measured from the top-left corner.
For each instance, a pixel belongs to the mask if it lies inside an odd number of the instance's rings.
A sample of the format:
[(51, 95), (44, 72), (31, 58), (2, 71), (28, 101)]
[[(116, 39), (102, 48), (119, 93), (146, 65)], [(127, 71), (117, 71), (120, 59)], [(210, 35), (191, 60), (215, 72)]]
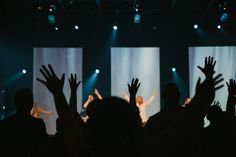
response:
[(68, 80), (71, 89), (69, 107), (72, 112), (77, 113), (77, 89), (80, 85), (80, 81), (77, 82), (76, 74), (74, 74), (74, 76), (71, 74)]

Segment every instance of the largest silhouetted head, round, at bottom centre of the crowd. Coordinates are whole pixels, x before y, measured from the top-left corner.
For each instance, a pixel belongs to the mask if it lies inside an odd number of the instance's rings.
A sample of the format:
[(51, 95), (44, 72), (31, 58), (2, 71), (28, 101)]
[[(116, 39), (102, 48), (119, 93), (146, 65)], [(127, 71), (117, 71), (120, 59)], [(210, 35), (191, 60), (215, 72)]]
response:
[(87, 114), (87, 124), (95, 145), (120, 149), (137, 139), (134, 136), (137, 135), (139, 119), (127, 101), (117, 97), (94, 100), (88, 106)]

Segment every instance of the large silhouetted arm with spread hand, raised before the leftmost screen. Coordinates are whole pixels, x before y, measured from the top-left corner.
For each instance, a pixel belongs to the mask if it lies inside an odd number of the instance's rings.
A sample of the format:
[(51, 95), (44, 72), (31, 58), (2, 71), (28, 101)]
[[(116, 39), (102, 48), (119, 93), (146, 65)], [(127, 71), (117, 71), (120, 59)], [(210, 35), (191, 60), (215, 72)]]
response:
[(67, 156), (82, 156), (81, 149), (86, 147), (86, 141), (82, 134), (81, 127), (75, 122), (63, 93), (65, 74), (63, 74), (61, 79), (59, 79), (51, 65), (48, 65), (48, 68), (43, 65), (40, 72), (46, 81), (39, 78), (37, 78), (37, 80), (44, 84), (53, 94), (57, 113), (63, 121), (64, 141)]

